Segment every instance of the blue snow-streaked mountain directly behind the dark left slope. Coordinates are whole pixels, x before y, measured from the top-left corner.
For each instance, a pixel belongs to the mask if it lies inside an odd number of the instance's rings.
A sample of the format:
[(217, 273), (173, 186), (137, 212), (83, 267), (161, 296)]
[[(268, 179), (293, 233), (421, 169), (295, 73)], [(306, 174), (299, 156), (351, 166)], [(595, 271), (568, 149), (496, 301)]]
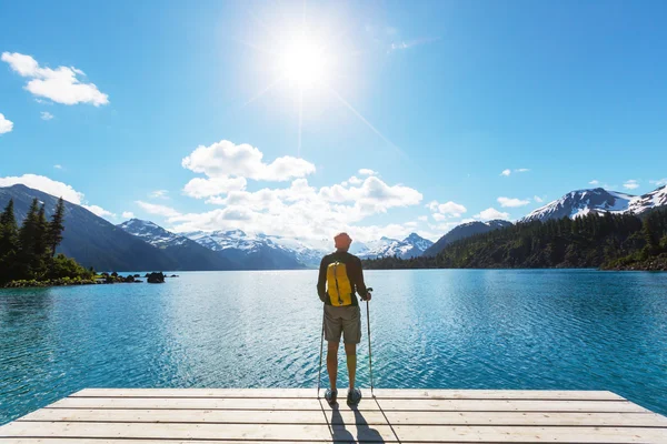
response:
[(188, 238), (167, 231), (150, 221), (130, 219), (118, 226), (158, 248), (169, 258), (172, 258), (178, 264), (178, 270), (215, 271), (238, 269), (238, 265), (229, 259)]

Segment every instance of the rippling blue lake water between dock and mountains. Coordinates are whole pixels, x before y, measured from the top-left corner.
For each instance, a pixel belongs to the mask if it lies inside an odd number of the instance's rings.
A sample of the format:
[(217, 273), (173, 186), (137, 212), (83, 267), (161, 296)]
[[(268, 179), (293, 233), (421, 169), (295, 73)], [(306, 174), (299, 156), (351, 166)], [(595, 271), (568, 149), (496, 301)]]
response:
[[(667, 414), (667, 273), (366, 275), (378, 387), (610, 390)], [(315, 393), (316, 279), (200, 272), (161, 285), (0, 291), (0, 424), (84, 387)], [(362, 314), (358, 383), (368, 386)]]

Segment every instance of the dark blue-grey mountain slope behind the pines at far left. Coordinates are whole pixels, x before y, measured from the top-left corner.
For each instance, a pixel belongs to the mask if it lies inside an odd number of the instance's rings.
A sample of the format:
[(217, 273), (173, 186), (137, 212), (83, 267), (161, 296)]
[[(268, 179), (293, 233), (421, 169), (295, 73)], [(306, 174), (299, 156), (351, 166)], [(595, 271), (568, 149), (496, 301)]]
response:
[[(0, 188), (0, 206), (14, 201), (19, 223), (26, 218), (32, 199), (46, 204), (50, 218), (58, 198), (24, 185)], [(98, 271), (178, 270), (177, 262), (162, 251), (71, 202), (64, 202), (63, 240), (59, 253)]]

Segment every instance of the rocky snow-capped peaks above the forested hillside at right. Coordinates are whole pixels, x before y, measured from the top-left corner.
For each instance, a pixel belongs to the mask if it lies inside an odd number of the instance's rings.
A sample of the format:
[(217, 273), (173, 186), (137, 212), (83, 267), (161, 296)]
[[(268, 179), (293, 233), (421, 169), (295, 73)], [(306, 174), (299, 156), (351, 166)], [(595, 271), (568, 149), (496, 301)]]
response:
[(604, 214), (629, 213), (640, 214), (651, 208), (667, 204), (667, 185), (646, 193), (633, 195), (601, 188), (571, 191), (563, 198), (546, 204), (521, 219), (519, 222), (547, 221), (549, 219), (575, 219), (590, 212)]

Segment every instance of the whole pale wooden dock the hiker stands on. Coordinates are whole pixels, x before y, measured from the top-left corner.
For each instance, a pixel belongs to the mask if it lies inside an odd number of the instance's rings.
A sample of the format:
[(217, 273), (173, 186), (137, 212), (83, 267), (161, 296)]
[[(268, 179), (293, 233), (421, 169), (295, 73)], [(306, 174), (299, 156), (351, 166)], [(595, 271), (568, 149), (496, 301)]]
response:
[(667, 417), (611, 392), (87, 389), (0, 427), (0, 443), (667, 443)]

